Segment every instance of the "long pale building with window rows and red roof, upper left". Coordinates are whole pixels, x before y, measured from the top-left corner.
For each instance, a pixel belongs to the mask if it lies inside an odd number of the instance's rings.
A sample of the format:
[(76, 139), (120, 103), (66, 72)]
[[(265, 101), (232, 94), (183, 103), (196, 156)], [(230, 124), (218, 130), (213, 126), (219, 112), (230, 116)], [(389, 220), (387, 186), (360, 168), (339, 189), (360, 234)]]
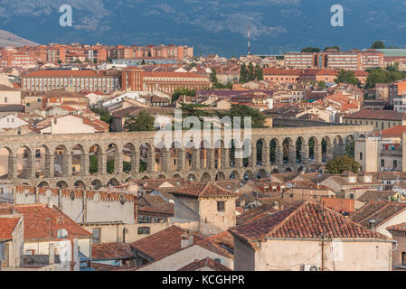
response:
[(24, 91), (66, 89), (102, 91), (119, 90), (120, 73), (116, 70), (38, 70), (22, 77)]

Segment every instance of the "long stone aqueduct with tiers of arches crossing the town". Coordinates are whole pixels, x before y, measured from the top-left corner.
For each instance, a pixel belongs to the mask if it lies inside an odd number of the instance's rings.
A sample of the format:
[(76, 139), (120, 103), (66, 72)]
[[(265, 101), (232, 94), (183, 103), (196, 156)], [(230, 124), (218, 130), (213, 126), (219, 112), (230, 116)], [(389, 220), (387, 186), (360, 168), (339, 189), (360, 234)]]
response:
[(242, 178), (247, 172), (264, 177), (273, 170), (296, 172), (326, 163), (345, 154), (345, 144), (355, 136), (371, 131), (372, 126), (252, 129), (244, 142), (250, 155), (243, 157), (234, 140), (229, 148), (223, 139), (214, 147), (207, 147), (207, 140), (182, 147), (176, 140), (166, 148), (154, 145), (153, 132), (8, 136), (0, 140), (6, 171), (1, 182), (88, 187), (95, 180), (105, 185), (125, 182), (124, 177), (176, 174), (196, 181)]

